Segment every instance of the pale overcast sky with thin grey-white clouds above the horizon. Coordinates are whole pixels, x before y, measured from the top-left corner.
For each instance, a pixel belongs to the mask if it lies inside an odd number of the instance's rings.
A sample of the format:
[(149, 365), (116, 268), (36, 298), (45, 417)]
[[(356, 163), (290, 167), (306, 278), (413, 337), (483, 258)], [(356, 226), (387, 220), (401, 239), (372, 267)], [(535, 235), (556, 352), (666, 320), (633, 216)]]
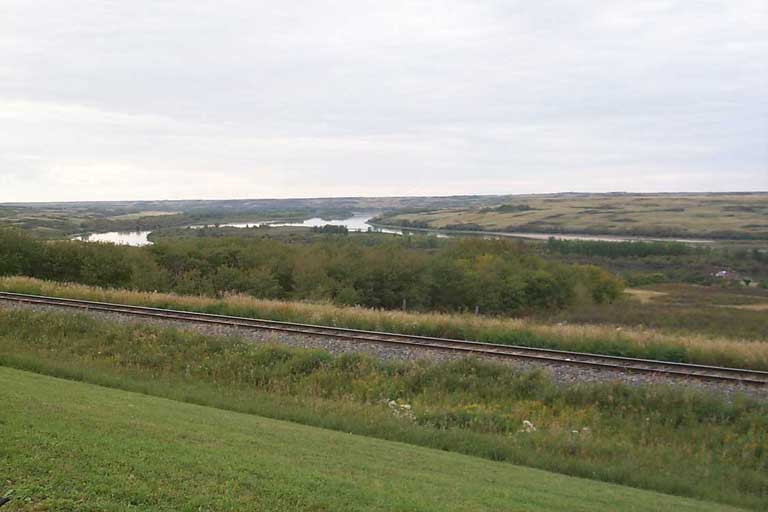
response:
[(0, 0), (0, 202), (768, 190), (765, 0)]

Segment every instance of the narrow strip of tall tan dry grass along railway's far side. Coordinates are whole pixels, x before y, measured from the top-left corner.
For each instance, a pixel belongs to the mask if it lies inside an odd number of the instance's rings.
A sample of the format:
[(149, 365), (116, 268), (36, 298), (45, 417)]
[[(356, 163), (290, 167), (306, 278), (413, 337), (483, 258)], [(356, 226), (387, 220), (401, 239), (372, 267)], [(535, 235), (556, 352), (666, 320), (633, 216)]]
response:
[(229, 314), (353, 329), (400, 332), (699, 364), (768, 370), (768, 342), (610, 325), (545, 324), (470, 314), (406, 313), (331, 304), (223, 299), (97, 288), (27, 277), (0, 278), (0, 290)]

